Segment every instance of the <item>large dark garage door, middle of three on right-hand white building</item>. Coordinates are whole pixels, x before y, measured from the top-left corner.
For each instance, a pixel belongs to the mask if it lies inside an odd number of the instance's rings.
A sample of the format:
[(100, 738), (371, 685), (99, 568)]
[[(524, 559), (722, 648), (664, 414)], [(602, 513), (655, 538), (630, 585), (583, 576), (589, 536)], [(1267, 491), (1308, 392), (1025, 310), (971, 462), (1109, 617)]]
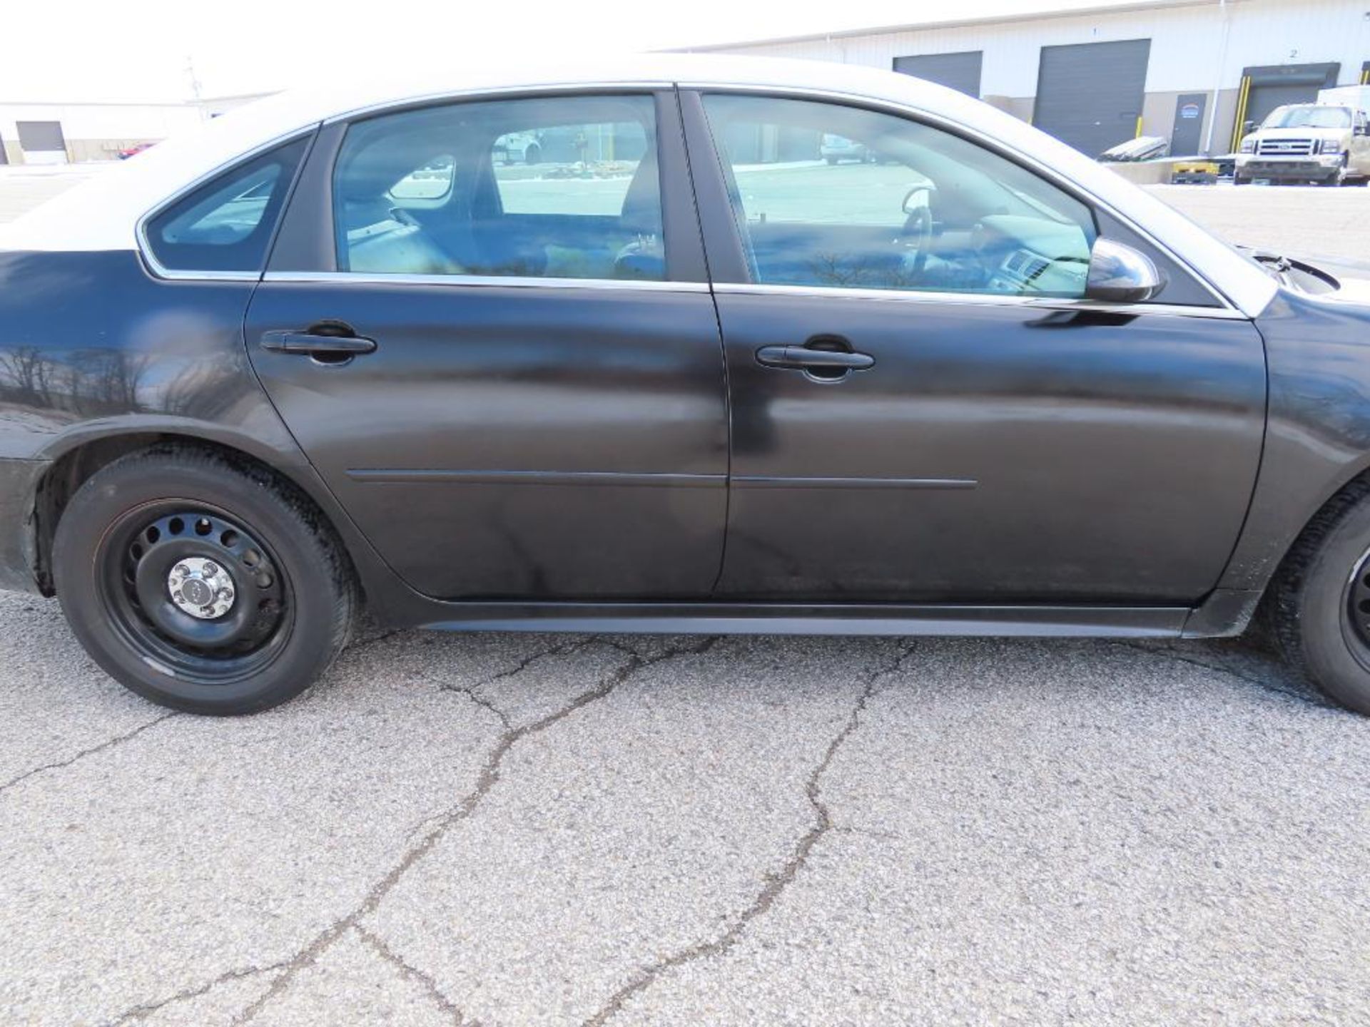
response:
[(1151, 40), (1043, 47), (1032, 123), (1089, 156), (1137, 134)]

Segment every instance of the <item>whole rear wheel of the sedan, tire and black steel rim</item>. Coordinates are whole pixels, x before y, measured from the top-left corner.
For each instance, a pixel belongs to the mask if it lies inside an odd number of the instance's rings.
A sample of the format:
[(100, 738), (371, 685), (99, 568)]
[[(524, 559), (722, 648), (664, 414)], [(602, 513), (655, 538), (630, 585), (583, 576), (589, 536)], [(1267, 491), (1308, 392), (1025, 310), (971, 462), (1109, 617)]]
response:
[(58, 523), (52, 574), (95, 661), (144, 698), (192, 713), (255, 713), (293, 698), (337, 659), (359, 607), (341, 545), (301, 494), (263, 468), (186, 446), (130, 453), (93, 474)]

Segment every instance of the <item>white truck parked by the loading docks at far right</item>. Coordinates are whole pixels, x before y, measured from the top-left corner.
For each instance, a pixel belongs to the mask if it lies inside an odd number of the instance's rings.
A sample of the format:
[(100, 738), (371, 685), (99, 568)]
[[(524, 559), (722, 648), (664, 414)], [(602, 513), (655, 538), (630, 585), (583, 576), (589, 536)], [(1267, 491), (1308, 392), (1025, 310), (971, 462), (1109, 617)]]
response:
[(1241, 140), (1233, 182), (1370, 182), (1370, 86), (1323, 89), (1273, 110)]

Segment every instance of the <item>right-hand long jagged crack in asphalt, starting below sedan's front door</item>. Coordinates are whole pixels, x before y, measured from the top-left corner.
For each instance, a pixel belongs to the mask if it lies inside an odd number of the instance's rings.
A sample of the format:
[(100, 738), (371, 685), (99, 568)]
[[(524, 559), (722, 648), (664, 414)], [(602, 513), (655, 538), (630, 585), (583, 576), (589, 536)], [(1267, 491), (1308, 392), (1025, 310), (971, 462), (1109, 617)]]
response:
[(696, 942), (695, 945), (681, 949), (680, 952), (667, 956), (666, 959), (659, 960), (638, 972), (636, 978), (610, 996), (608, 1001), (600, 1008), (600, 1011), (585, 1020), (584, 1027), (601, 1027), (608, 1023), (608, 1020), (622, 1012), (627, 1000), (641, 991), (645, 991), (667, 971), (686, 963), (693, 963), (695, 960), (727, 952), (741, 939), (743, 933), (752, 920), (759, 916), (764, 916), (771, 906), (775, 905), (775, 901), (781, 897), (785, 889), (788, 889), (799, 876), (800, 871), (804, 870), (804, 865), (808, 863), (808, 854), (814, 850), (814, 846), (818, 845), (823, 835), (834, 830), (832, 809), (829, 809), (827, 804), (823, 802), (821, 794), (823, 775), (832, 765), (838, 749), (843, 748), (843, 744), (860, 724), (862, 713), (866, 712), (866, 704), (873, 696), (875, 696), (875, 683), (886, 674), (897, 671), (912, 652), (914, 644), (906, 642), (893, 660), (884, 667), (877, 667), (867, 676), (860, 694), (856, 697), (856, 702), (852, 705), (851, 713), (847, 715), (847, 722), (843, 724), (841, 730), (833, 735), (833, 739), (827, 744), (827, 749), (823, 752), (823, 757), (810, 772), (808, 779), (804, 783), (804, 797), (814, 808), (814, 824), (795, 844), (795, 849), (790, 853), (789, 860), (785, 861), (785, 865), (782, 865), (778, 871), (766, 875), (766, 885), (758, 893), (756, 898), (752, 900), (751, 905), (743, 909), (733, 924), (718, 938), (714, 938), (712, 941)]

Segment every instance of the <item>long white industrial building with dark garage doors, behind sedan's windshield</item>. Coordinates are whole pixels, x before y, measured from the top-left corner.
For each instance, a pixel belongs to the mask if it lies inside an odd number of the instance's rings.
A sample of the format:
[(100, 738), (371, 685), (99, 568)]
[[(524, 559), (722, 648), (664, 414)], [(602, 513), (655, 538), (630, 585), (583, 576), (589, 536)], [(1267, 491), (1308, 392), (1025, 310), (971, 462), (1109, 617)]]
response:
[(1280, 104), (1370, 84), (1370, 0), (1151, 0), (692, 49), (906, 71), (1088, 153), (1134, 136), (1226, 153)]

